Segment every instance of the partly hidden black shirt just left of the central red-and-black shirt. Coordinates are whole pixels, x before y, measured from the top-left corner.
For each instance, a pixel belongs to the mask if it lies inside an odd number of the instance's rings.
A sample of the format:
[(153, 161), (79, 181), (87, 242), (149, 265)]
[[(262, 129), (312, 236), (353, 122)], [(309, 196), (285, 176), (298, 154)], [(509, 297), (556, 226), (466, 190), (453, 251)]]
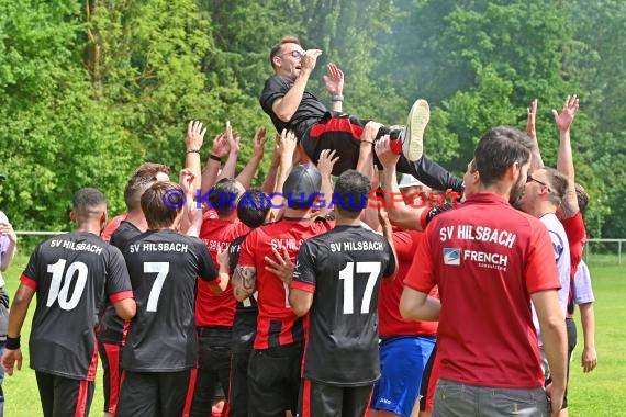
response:
[[(234, 271), (235, 268), (237, 268), (242, 244), (246, 236), (248, 236), (248, 234), (237, 237), (228, 246), (228, 263), (231, 271)], [(257, 316), (259, 315), (257, 295), (258, 293), (255, 291), (253, 296), (244, 300), (243, 302), (237, 302), (235, 320), (233, 322), (233, 351), (248, 350), (254, 343), (257, 335)]]

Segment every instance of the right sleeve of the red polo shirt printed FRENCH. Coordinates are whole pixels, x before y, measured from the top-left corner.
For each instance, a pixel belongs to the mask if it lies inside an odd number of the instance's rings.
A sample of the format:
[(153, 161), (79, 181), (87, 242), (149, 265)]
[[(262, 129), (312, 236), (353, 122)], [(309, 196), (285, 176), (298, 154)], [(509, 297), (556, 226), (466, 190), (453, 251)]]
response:
[(525, 262), (528, 294), (545, 290), (558, 290), (561, 288), (561, 282), (548, 229), (539, 221), (533, 223), (530, 227), (530, 245), (528, 258)]

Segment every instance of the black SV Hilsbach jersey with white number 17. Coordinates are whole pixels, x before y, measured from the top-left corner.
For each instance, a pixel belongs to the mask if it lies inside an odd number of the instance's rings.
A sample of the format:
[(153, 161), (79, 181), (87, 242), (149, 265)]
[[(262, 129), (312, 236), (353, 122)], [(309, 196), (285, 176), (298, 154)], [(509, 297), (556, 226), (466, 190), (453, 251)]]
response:
[(380, 280), (395, 270), (389, 243), (360, 226), (335, 226), (306, 239), (291, 286), (313, 292), (304, 377), (339, 386), (380, 377)]

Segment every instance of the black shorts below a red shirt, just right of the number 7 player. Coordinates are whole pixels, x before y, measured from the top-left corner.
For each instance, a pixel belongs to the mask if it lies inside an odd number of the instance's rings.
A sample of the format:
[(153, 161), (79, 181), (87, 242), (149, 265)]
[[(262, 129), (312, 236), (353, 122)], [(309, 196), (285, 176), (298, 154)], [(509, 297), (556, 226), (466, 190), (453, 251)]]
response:
[(198, 329), (198, 374), (191, 417), (211, 415), (217, 386), (221, 384), (226, 401), (228, 399), (228, 380), (231, 374), (230, 327), (205, 327)]

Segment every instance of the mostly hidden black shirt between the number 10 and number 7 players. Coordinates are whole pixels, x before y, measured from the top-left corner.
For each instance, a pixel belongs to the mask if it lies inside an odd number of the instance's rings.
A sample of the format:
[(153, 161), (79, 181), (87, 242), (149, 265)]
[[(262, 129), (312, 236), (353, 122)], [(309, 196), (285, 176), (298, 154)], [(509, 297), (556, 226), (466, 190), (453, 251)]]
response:
[[(120, 226), (111, 235), (109, 240), (110, 245), (113, 245), (120, 250), (124, 250), (126, 244), (134, 237), (142, 234), (134, 224), (131, 222), (122, 221)], [(104, 309), (104, 315), (100, 324), (100, 333), (98, 334), (98, 340), (105, 343), (118, 343), (121, 345), (124, 341), (124, 329), (125, 323), (115, 314), (115, 308), (112, 304), (107, 304)]]

